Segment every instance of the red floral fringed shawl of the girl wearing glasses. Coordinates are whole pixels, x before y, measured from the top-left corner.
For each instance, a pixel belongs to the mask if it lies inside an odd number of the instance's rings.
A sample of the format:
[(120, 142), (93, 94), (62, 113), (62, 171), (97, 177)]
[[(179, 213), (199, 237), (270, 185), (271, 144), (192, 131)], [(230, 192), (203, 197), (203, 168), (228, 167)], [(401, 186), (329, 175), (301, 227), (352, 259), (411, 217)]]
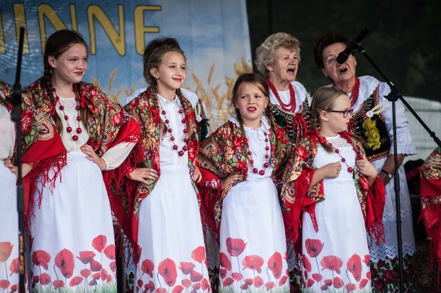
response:
[[(340, 135), (351, 140), (353, 146), (358, 149), (358, 152), (365, 153), (360, 142), (351, 138), (346, 132), (342, 132)], [(289, 161), (283, 177), (285, 184), (280, 196), (288, 208), (285, 213), (289, 213), (289, 215), (285, 217), (289, 218), (289, 233), (295, 241), (299, 237), (301, 214), (304, 211), (311, 215), (314, 228), (316, 231), (318, 230), (314, 210), (317, 203), (325, 200), (325, 194), (322, 181), (311, 188), (309, 188), (309, 185), (316, 171), (313, 169), (314, 157), (320, 142), (325, 143), (326, 140), (323, 140), (318, 135), (317, 129), (307, 131), (298, 140), (295, 147), (294, 160)], [(384, 226), (382, 224), (384, 185), (377, 177), (373, 185), (369, 186), (367, 178), (358, 171), (358, 167), (355, 166), (353, 169), (355, 174), (353, 181), (356, 185), (358, 202), (360, 202), (360, 208), (365, 218), (366, 230), (371, 239), (376, 239), (376, 243), (379, 244), (380, 239), (384, 241)]]

